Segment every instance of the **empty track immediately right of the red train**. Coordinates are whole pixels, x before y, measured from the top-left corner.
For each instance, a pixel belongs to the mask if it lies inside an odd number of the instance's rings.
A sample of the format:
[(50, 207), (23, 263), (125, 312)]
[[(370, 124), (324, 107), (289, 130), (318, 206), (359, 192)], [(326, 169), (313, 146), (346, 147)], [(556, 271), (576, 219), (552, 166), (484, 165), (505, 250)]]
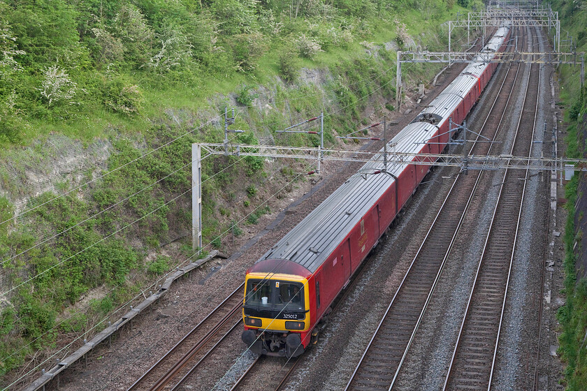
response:
[[(509, 96), (509, 91), (512, 91), (516, 83), (519, 68), (519, 65), (510, 65), (507, 70), (481, 128), (481, 134), (485, 137), (494, 139), (501, 128), (509, 99), (500, 98), (500, 92), (505, 91)], [(497, 126), (489, 123), (493, 118), (500, 118)], [(471, 153), (488, 154), (490, 150), (491, 143), (475, 143)], [(388, 390), (393, 387), (481, 175), (482, 172), (472, 172), (456, 178), (352, 374), (347, 390)]]

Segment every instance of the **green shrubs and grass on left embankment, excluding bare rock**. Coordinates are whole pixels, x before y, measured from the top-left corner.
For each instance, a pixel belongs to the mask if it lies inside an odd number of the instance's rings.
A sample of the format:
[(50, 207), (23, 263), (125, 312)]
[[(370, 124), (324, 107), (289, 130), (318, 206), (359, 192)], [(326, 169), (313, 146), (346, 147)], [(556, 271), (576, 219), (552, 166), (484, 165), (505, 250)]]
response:
[[(369, 94), (377, 90), (386, 96), (393, 91), (393, 73), (382, 70), (395, 57), (385, 52), (377, 59), (355, 60), (362, 53), (352, 44), (373, 40), (381, 45), (393, 39), (393, 26), (381, 20), (391, 20), (412, 3), (302, 0), (290, 6), (259, 0), (0, 0), (0, 145), (26, 144), (50, 132), (83, 141), (106, 134), (113, 153), (105, 172), (120, 168), (48, 205), (41, 206), (55, 194), (33, 197), (27, 207), (38, 208), (27, 219), (10, 229), (8, 224), (0, 226), (1, 257), (66, 230), (4, 265), (11, 282), (39, 275), (27, 283), (27, 290), (15, 292), (14, 307), (2, 312), (0, 374), (22, 363), (31, 353), (31, 348), (23, 348), (30, 341), (38, 337), (35, 348), (52, 346), (57, 332), (85, 332), (97, 315), (106, 316), (124, 302), (137, 290), (127, 281), (131, 270), (154, 278), (170, 265), (165, 257), (145, 265), (145, 252), (168, 243), (171, 228), (189, 226), (185, 196), (177, 203), (169, 201), (191, 189), (186, 167), (191, 142), (218, 142), (222, 131), (209, 126), (164, 146), (185, 133), (185, 128), (163, 125), (171, 122), (161, 119), (167, 118), (164, 112), (172, 112), (174, 118), (179, 112), (182, 124), (191, 126), (193, 113), (211, 94), (236, 91), (238, 103), (250, 106), (257, 84), (276, 73), (293, 82), (300, 66), (319, 64), (337, 75), (333, 91), (322, 93), (312, 85), (284, 89), (277, 84), (276, 99), (266, 114), (249, 110), (247, 120), (239, 117), (235, 126), (264, 129), (289, 145), (317, 146), (316, 136), (273, 132), (318, 115), (324, 102), (331, 101), (339, 111), (325, 119), (325, 140), (332, 143), (332, 129), (356, 130)], [(59, 87), (59, 96), (51, 95), (52, 87)], [(259, 143), (253, 131), (238, 135), (238, 140)], [(217, 165), (225, 168), (236, 160), (208, 159), (203, 162), (203, 177), (217, 172)], [(254, 197), (261, 186), (255, 177), (261, 177), (264, 168), (263, 158), (247, 156), (226, 175), (203, 184), (206, 242), (221, 246), (218, 235), (226, 228), (242, 234), (234, 222), (227, 227), (218, 221), (219, 212), (233, 219), (238, 214), (219, 205), (215, 196), (244, 172), (250, 177), (247, 182), (254, 183), (247, 195)], [(287, 169), (285, 174), (295, 173)], [(88, 170), (85, 175), (89, 179), (96, 172)], [(19, 193), (4, 168), (0, 181), (10, 195)], [(66, 190), (66, 184), (57, 189)], [(242, 190), (229, 189), (224, 200), (234, 206), (238, 191)], [(238, 205), (249, 207), (251, 201)], [(88, 219), (108, 207), (113, 209)], [(268, 212), (267, 207), (256, 210), (247, 223), (258, 223)], [(0, 219), (12, 213), (8, 199), (0, 198)], [(191, 248), (184, 251), (193, 255)], [(91, 300), (87, 312), (71, 313), (61, 327), (53, 328), (57, 318), (69, 315), (64, 312), (69, 304), (103, 286), (113, 288), (113, 293)]]

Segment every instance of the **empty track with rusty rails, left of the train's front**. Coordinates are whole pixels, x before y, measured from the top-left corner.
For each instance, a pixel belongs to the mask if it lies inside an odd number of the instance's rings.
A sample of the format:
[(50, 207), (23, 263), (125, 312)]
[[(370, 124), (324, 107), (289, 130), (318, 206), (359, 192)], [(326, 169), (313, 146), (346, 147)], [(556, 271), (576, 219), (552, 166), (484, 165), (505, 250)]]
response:
[[(177, 388), (195, 367), (219, 344), (240, 322), (242, 296), (245, 284), (236, 288), (224, 302), (218, 305), (206, 318), (186, 334), (166, 355), (161, 357), (148, 371), (131, 385), (127, 391), (159, 391)], [(238, 321), (235, 319), (238, 318)], [(224, 334), (222, 334), (224, 331)], [(219, 334), (222, 336), (219, 337)], [(205, 348), (213, 344), (206, 351)], [(200, 357), (197, 364), (192, 364)]]

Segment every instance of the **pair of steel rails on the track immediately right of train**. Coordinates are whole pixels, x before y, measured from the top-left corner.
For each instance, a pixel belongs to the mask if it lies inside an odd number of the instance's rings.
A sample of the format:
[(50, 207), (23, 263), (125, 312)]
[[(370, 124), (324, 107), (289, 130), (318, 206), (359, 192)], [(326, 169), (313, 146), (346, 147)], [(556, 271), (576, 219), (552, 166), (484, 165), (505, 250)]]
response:
[[(495, 100), (493, 101), (493, 104), (491, 105), (491, 108), (490, 108), (490, 110), (488, 111), (488, 115), (486, 116), (486, 118), (485, 118), (485, 120), (484, 120), (484, 124), (481, 126), (481, 131), (484, 131), (484, 129), (486, 128), (486, 124), (487, 124), (487, 122), (488, 122), (488, 119), (489, 119), (489, 118), (491, 118), (491, 117), (493, 117), (493, 114), (494, 114), (493, 112), (494, 112), (494, 109), (495, 109), (495, 105), (496, 105), (496, 103), (498, 102), (498, 98), (499, 98), (499, 96), (500, 96), (500, 92), (502, 91), (502, 89), (503, 89), (503, 87), (504, 87), (504, 85), (505, 85), (505, 82), (506, 82), (506, 80), (507, 80), (507, 78), (508, 78), (508, 76), (509, 76), (509, 72), (511, 71), (511, 68), (512, 68), (512, 67), (511, 67), (511, 65), (510, 65), (510, 66), (508, 67), (508, 70), (507, 70), (507, 73), (506, 73), (505, 77), (503, 78), (502, 84), (500, 85), (500, 89), (498, 90), (498, 94), (496, 94)], [(515, 81), (516, 81), (516, 78), (517, 78), (517, 75), (518, 75), (518, 72), (517, 72), (517, 70), (518, 70), (518, 69), (519, 69), (519, 66), (516, 68), (516, 75), (515, 75), (514, 81), (512, 82), (512, 86), (515, 84)], [(502, 115), (501, 115), (500, 123), (501, 123), (501, 121), (502, 121), (502, 119), (503, 119), (503, 117), (504, 117), (504, 115), (505, 115), (505, 109), (506, 109), (506, 108), (507, 108), (507, 103), (504, 105), (504, 108), (502, 109), (503, 111), (502, 111)], [(495, 110), (497, 110), (497, 109), (495, 109)], [(499, 129), (499, 128), (500, 128), (500, 126), (499, 126), (499, 125), (498, 125), (498, 126), (495, 128), (495, 129), (496, 129), (496, 131), (495, 131), (495, 135), (493, 136), (494, 138), (495, 138), (495, 136), (498, 134), (498, 129)], [(479, 135), (477, 135), (477, 140), (479, 140), (479, 137), (480, 137), (480, 136), (479, 136)], [(475, 144), (474, 146), (477, 146), (477, 144)], [(472, 148), (472, 149), (473, 149), (473, 148)], [(489, 148), (488, 148), (487, 154), (488, 154), (488, 153), (490, 153), (490, 152), (491, 152), (491, 147), (489, 147)], [(460, 177), (460, 175), (459, 175), (458, 177)], [(349, 382), (347, 383), (347, 388), (345, 388), (345, 390), (349, 390), (349, 388), (351, 388), (351, 387), (352, 387), (352, 383), (355, 381), (356, 375), (357, 375), (357, 373), (358, 373), (358, 371), (359, 371), (359, 369), (360, 369), (361, 365), (362, 365), (362, 364), (365, 362), (365, 357), (367, 357), (367, 355), (368, 355), (368, 352), (370, 351), (370, 349), (372, 348), (372, 346), (374, 346), (373, 344), (374, 344), (375, 338), (376, 338), (376, 337), (377, 337), (377, 335), (379, 334), (380, 330), (382, 330), (382, 327), (383, 327), (384, 321), (385, 321), (385, 320), (386, 320), (386, 318), (388, 317), (388, 314), (389, 314), (389, 312), (391, 311), (391, 308), (393, 307), (393, 304), (395, 304), (395, 303), (396, 303), (396, 298), (398, 297), (398, 295), (400, 295), (400, 290), (403, 290), (403, 288), (405, 287), (405, 281), (407, 280), (408, 276), (410, 275), (410, 272), (412, 272), (412, 268), (414, 267), (414, 265), (415, 265), (415, 263), (416, 263), (416, 260), (419, 260), (419, 258), (420, 258), (419, 256), (420, 256), (420, 254), (421, 254), (421, 251), (422, 251), (423, 247), (424, 247), (424, 246), (426, 245), (426, 243), (429, 241), (430, 234), (431, 234), (431, 233), (433, 232), (433, 230), (435, 229), (435, 226), (437, 226), (437, 221), (438, 221), (438, 219), (439, 219), (439, 216), (440, 216), (440, 215), (441, 215), (441, 214), (444, 212), (444, 209), (447, 209), (447, 208), (446, 208), (446, 206), (447, 206), (447, 205), (451, 205), (451, 203), (452, 203), (452, 202), (449, 202), (449, 200), (451, 200), (451, 199), (452, 199), (451, 197), (455, 196), (455, 195), (454, 195), (454, 189), (455, 189), (455, 186), (456, 186), (456, 184), (457, 184), (457, 182), (458, 182), (458, 177), (457, 177), (457, 179), (454, 181), (453, 185), (451, 186), (451, 189), (450, 189), (450, 191), (449, 191), (449, 194), (446, 196), (446, 198), (445, 198), (445, 200), (444, 200), (444, 202), (443, 202), (443, 204), (442, 204), (442, 207), (441, 207), (441, 209), (439, 210), (439, 212), (437, 212), (437, 215), (435, 216), (435, 219), (434, 219), (434, 221), (433, 221), (433, 223), (432, 223), (432, 226), (430, 226), (430, 228), (429, 228), (429, 230), (428, 230), (428, 233), (426, 234), (426, 238), (423, 240), (423, 242), (422, 242), (422, 244), (421, 244), (421, 246), (420, 246), (420, 248), (419, 248), (418, 252), (416, 253), (416, 256), (414, 256), (414, 259), (412, 260), (412, 263), (410, 264), (410, 267), (408, 268), (407, 272), (405, 273), (405, 276), (403, 277), (403, 280), (401, 281), (401, 283), (400, 283), (400, 286), (399, 286), (399, 287), (398, 287), (398, 289), (396, 290), (396, 293), (395, 293), (395, 295), (393, 296), (393, 299), (391, 300), (391, 303), (389, 304), (389, 307), (387, 308), (386, 312), (384, 313), (384, 316), (382, 317), (382, 320), (379, 322), (379, 325), (378, 325), (378, 327), (377, 327), (377, 330), (376, 330), (376, 331), (375, 331), (375, 333), (373, 334), (373, 336), (372, 336), (372, 338), (371, 338), (371, 340), (370, 340), (370, 342), (369, 342), (369, 344), (368, 344), (367, 348), (365, 348), (365, 351), (364, 351), (364, 353), (363, 353), (363, 356), (361, 357), (361, 360), (360, 360), (360, 362), (357, 364), (357, 366), (356, 366), (356, 369), (355, 369), (354, 373), (352, 374), (351, 378), (349, 379)], [(439, 267), (439, 269), (438, 269), (438, 271), (437, 271), (437, 273), (436, 273), (436, 276), (435, 276), (435, 279), (434, 279), (434, 281), (433, 281), (433, 284), (432, 284), (432, 286), (431, 286), (431, 288), (430, 288), (430, 291), (428, 292), (428, 296), (426, 297), (426, 301), (425, 301), (425, 303), (423, 304), (423, 308), (422, 308), (422, 310), (421, 310), (421, 312), (420, 312), (420, 316), (419, 316), (418, 320), (416, 320), (416, 325), (415, 325), (414, 329), (412, 329), (412, 334), (411, 334), (411, 336), (410, 336), (410, 340), (407, 342), (407, 347), (405, 348), (405, 350), (404, 350), (404, 353), (403, 353), (403, 356), (402, 356), (402, 357), (401, 357), (401, 359), (400, 359), (400, 364), (398, 365), (398, 368), (396, 369), (396, 371), (395, 371), (395, 373), (394, 373), (394, 375), (393, 375), (393, 379), (392, 379), (392, 380), (391, 380), (391, 382), (390, 382), (390, 383), (391, 383), (391, 385), (389, 385), (389, 389), (391, 389), (391, 388), (393, 387), (393, 383), (396, 381), (396, 378), (397, 378), (397, 376), (398, 376), (398, 373), (399, 373), (399, 371), (400, 371), (400, 367), (402, 366), (402, 364), (403, 364), (403, 361), (405, 360), (405, 357), (406, 357), (407, 351), (408, 351), (408, 349), (410, 348), (410, 345), (412, 344), (412, 341), (413, 341), (413, 339), (414, 339), (415, 332), (416, 332), (416, 330), (417, 330), (417, 328), (418, 328), (418, 325), (419, 325), (419, 323), (420, 323), (420, 321), (421, 321), (421, 318), (422, 318), (422, 316), (423, 316), (423, 313), (424, 313), (424, 311), (426, 310), (426, 306), (427, 306), (428, 302), (430, 301), (430, 297), (431, 297), (431, 295), (432, 295), (432, 293), (433, 293), (433, 290), (434, 290), (434, 288), (435, 288), (435, 286), (436, 286), (436, 283), (437, 283), (437, 281), (438, 281), (438, 279), (439, 279), (439, 277), (440, 277), (440, 273), (442, 272), (442, 268), (444, 267), (444, 263), (445, 263), (445, 261), (447, 260), (447, 257), (448, 257), (448, 255), (449, 255), (449, 253), (450, 253), (450, 251), (451, 251), (452, 245), (453, 245), (453, 243), (454, 243), (454, 240), (455, 240), (455, 238), (456, 238), (456, 235), (457, 235), (457, 233), (458, 233), (458, 229), (461, 227), (461, 223), (462, 223), (462, 221), (463, 221), (463, 218), (464, 218), (464, 216), (465, 216), (465, 214), (466, 214), (466, 211), (468, 210), (468, 207), (469, 207), (469, 205), (470, 205), (470, 202), (471, 202), (471, 200), (472, 200), (472, 196), (473, 196), (473, 194), (474, 194), (474, 189), (476, 189), (476, 188), (477, 188), (477, 184), (479, 183), (479, 178), (480, 178), (480, 177), (481, 177), (481, 172), (479, 172), (479, 173), (477, 174), (477, 179), (475, 180), (475, 183), (474, 183), (474, 185), (472, 186), (472, 189), (471, 189), (471, 191), (470, 191), (470, 196), (469, 196), (469, 198), (468, 198), (468, 200), (467, 200), (467, 202), (466, 202), (466, 205), (465, 205), (465, 207), (462, 209), (462, 210), (463, 210), (463, 212), (461, 213), (461, 217), (460, 217), (460, 219), (459, 219), (459, 221), (458, 221), (458, 223), (457, 223), (457, 225), (456, 225), (456, 228), (454, 229), (454, 234), (453, 234), (453, 235), (452, 235), (452, 237), (451, 237), (451, 242), (449, 243), (449, 247), (448, 247), (448, 249), (447, 249), (447, 251), (446, 251), (446, 255), (444, 256), (444, 258), (443, 258), (443, 260), (442, 260), (442, 263), (441, 263), (441, 265), (440, 265), (440, 267)], [(409, 288), (408, 288), (408, 289), (409, 289)], [(389, 384), (389, 383), (388, 383), (388, 384)]]

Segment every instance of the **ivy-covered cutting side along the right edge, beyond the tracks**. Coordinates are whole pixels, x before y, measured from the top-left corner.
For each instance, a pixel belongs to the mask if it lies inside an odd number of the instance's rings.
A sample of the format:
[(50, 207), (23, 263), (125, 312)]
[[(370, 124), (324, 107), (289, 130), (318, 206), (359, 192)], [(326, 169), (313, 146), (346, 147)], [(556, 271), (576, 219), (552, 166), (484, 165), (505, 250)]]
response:
[[(587, 1), (556, 0), (562, 20), (562, 33), (573, 37), (577, 52), (587, 52)], [(563, 44), (564, 45), (564, 44)], [(569, 43), (566, 43), (569, 45)], [(563, 51), (568, 50), (563, 46)], [(560, 67), (560, 99), (565, 105), (567, 156), (587, 157), (587, 90), (580, 89), (579, 68)], [(563, 382), (567, 390), (587, 389), (587, 248), (584, 228), (587, 226), (587, 182), (575, 175), (565, 189), (567, 224), (565, 227), (565, 295), (566, 304), (558, 311), (562, 326), (559, 353), (566, 362)], [(576, 209), (577, 208), (577, 209)]]

